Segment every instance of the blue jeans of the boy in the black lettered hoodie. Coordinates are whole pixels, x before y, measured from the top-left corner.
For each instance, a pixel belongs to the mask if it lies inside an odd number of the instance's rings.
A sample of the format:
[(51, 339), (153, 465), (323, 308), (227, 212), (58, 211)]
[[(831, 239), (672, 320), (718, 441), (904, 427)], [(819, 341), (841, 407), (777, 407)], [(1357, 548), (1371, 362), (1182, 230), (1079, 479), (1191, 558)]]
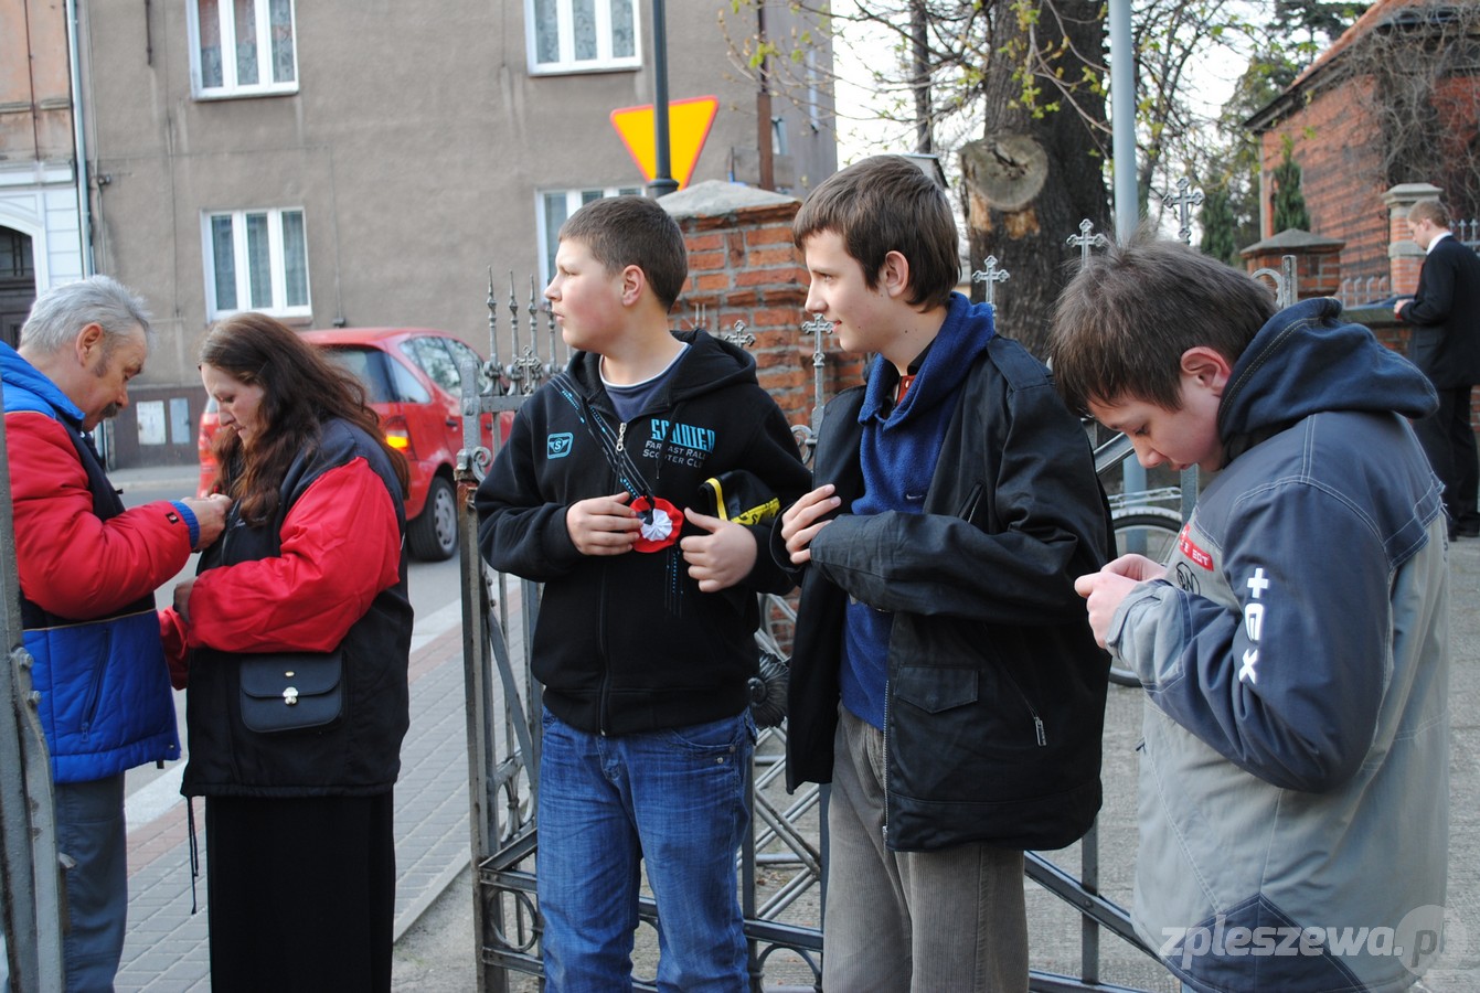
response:
[(549, 993), (632, 989), (639, 864), (659, 910), (660, 990), (747, 989), (736, 855), (750, 824), (749, 712), (586, 734), (545, 712), (537, 878)]

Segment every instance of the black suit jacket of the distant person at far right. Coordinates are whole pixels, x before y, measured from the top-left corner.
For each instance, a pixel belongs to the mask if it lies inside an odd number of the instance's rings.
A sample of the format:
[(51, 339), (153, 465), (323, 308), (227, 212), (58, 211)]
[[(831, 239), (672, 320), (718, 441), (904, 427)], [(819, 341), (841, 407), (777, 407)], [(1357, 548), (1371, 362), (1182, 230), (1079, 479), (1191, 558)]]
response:
[(1437, 389), (1480, 383), (1480, 256), (1453, 235), (1440, 238), (1418, 275), (1418, 294), (1403, 306), (1413, 324), (1409, 360)]

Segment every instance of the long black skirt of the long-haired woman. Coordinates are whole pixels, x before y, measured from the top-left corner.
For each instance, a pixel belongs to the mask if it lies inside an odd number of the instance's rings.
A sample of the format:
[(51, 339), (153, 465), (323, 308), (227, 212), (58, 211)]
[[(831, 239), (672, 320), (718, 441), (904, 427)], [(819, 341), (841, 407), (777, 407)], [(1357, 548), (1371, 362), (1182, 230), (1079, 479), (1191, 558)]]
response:
[(391, 989), (391, 793), (206, 798), (213, 993)]

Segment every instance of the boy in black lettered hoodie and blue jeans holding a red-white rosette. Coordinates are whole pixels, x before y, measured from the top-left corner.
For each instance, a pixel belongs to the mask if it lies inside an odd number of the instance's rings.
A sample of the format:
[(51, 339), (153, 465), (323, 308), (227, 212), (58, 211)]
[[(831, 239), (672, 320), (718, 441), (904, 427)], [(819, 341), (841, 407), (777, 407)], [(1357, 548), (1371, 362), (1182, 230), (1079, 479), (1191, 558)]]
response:
[(684, 235), (653, 200), (586, 204), (545, 287), (565, 371), (519, 408), (478, 487), (493, 568), (545, 583), (537, 878), (549, 990), (626, 989), (639, 863), (657, 900), (660, 989), (747, 989), (736, 854), (749, 827), (756, 593), (792, 582), (768, 524), (697, 512), (706, 479), (810, 485), (755, 361), (667, 312)]

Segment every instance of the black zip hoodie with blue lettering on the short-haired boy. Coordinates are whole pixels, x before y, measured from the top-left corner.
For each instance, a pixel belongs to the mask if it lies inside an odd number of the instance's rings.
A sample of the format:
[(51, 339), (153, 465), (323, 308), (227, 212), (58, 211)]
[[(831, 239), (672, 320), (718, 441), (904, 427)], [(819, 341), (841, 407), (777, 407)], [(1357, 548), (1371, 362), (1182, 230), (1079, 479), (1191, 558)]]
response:
[[(781, 410), (756, 383), (755, 361), (703, 331), (651, 407), (617, 420), (599, 355), (577, 352), (567, 374), (530, 397), (478, 487), (478, 546), (500, 571), (545, 583), (533, 670), (545, 706), (589, 733), (633, 734), (718, 721), (749, 703), (758, 592), (792, 580), (767, 555), (770, 525), (753, 525), (756, 564), (737, 586), (702, 593), (676, 545), (588, 556), (565, 530), (567, 509), (622, 491), (588, 425), (620, 437), (659, 497), (679, 511), (704, 479), (747, 469), (787, 505), (811, 477)], [(700, 534), (685, 525), (684, 534)]]

